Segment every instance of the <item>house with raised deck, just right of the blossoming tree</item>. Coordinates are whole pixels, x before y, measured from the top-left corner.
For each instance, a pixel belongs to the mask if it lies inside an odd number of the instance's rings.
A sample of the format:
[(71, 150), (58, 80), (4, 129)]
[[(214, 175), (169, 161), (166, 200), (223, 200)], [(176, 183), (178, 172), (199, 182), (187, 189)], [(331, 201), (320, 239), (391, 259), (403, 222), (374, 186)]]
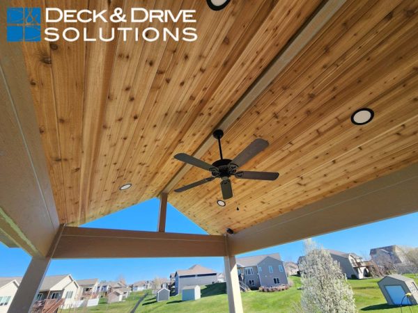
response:
[(339, 262), (341, 271), (347, 278), (357, 278), (359, 280), (370, 276), (373, 264), (364, 261), (362, 257), (353, 252), (346, 253), (337, 250), (327, 250), (332, 259)]

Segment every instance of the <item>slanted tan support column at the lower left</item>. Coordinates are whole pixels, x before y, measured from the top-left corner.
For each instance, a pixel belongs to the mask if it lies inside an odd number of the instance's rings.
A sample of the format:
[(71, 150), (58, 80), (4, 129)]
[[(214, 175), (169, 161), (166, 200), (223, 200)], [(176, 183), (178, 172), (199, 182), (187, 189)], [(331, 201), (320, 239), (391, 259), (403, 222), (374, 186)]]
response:
[(49, 266), (50, 258), (36, 259), (32, 258), (26, 273), (24, 273), (22, 282), (13, 298), (8, 313), (26, 313), (31, 312), (33, 302), (38, 295), (40, 284), (45, 277)]

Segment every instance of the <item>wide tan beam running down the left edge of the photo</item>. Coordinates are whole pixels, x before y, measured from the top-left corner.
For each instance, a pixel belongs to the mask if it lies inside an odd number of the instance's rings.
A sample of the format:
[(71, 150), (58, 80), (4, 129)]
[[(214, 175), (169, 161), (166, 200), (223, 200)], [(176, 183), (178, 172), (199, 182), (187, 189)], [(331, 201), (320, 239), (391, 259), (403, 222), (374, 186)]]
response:
[[(0, 3), (6, 29), (9, 1)], [(22, 45), (0, 32), (0, 228), (31, 255), (45, 257), (59, 227), (33, 109)]]

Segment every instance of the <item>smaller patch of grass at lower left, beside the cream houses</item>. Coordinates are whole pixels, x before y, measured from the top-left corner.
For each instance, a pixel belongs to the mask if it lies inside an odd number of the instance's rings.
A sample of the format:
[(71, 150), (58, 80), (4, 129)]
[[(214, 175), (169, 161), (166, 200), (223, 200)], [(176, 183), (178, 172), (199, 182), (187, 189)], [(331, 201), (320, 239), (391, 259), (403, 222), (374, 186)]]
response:
[[(77, 310), (61, 310), (59, 312), (95, 312), (95, 313), (127, 313), (131, 312), (138, 300), (144, 296), (144, 291), (132, 292), (123, 302), (107, 304), (106, 298), (100, 298), (95, 307), (79, 307)], [(139, 310), (137, 310), (139, 312)]]

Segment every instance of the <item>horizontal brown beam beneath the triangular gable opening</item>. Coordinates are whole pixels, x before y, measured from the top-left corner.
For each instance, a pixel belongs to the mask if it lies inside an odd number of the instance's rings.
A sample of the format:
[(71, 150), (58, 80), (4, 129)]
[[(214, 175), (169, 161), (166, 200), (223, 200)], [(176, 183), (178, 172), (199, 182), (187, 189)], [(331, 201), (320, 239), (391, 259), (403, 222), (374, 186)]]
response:
[(64, 227), (53, 259), (219, 257), (224, 236)]

